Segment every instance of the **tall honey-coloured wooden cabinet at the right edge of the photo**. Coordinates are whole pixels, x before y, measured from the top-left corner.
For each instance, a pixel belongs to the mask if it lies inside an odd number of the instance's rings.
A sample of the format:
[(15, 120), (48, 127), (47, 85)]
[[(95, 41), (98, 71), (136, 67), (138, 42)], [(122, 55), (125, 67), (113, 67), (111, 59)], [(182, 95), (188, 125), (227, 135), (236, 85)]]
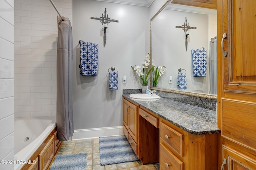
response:
[(218, 0), (220, 170), (256, 170), (256, 0)]

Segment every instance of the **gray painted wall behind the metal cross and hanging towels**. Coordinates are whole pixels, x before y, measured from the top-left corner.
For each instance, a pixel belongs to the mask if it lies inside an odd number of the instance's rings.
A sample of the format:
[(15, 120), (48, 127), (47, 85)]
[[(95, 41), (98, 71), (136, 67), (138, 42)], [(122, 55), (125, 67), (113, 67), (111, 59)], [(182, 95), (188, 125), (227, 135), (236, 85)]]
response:
[[(108, 24), (106, 46), (99, 20), (107, 9), (111, 19), (119, 23)], [(75, 129), (122, 126), (122, 89), (140, 88), (138, 76), (131, 65), (142, 65), (149, 52), (149, 8), (110, 2), (73, 1), (73, 110)], [(98, 76), (79, 74), (79, 40), (97, 43)], [(116, 67), (119, 87), (108, 90), (108, 68)], [(126, 75), (127, 84), (122, 84)]]

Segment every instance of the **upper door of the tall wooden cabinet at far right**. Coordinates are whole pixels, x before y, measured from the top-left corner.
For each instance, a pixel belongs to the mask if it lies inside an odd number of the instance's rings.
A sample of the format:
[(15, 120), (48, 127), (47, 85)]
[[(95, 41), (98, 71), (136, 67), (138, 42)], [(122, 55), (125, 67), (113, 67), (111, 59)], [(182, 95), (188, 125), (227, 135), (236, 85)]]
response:
[[(256, 93), (256, 1), (222, 0), (223, 90)], [(222, 53), (223, 54), (223, 53)]]

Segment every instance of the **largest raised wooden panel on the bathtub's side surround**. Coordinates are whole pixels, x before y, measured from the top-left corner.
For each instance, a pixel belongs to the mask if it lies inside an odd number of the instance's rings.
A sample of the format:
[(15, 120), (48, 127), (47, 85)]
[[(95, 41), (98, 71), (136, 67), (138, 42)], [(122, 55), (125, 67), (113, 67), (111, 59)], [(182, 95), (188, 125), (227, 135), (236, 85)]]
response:
[(54, 156), (54, 135), (39, 154), (40, 170), (46, 170)]

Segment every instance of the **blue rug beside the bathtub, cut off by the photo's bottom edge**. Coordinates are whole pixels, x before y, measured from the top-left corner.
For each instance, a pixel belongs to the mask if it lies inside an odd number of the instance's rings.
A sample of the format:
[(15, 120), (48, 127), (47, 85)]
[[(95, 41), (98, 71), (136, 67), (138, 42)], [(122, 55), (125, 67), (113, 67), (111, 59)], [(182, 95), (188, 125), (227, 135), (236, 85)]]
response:
[(50, 170), (86, 170), (87, 153), (57, 155)]

